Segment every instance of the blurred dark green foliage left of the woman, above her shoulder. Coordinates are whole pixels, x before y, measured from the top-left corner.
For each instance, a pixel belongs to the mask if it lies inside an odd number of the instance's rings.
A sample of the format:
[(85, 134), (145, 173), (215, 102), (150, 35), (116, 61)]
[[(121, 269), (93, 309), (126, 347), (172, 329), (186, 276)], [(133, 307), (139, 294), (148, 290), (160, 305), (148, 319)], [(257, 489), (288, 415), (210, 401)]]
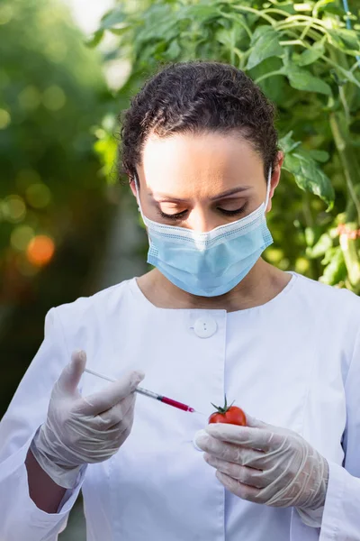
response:
[[(100, 59), (61, 2), (0, 3), (0, 417), (45, 313), (95, 289), (112, 215), (93, 149), (112, 97)], [(36, 235), (55, 245), (45, 267), (27, 258)]]

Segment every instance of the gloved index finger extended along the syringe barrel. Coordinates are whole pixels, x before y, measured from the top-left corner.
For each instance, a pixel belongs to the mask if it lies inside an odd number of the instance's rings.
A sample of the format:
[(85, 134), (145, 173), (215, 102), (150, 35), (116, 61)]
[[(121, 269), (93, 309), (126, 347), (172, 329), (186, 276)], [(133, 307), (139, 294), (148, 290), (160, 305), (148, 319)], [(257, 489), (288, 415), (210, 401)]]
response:
[(85, 415), (97, 415), (112, 408), (121, 399), (128, 397), (144, 377), (145, 374), (141, 371), (128, 372), (121, 380), (114, 381), (103, 390), (83, 398), (78, 405), (77, 411), (81, 411)]

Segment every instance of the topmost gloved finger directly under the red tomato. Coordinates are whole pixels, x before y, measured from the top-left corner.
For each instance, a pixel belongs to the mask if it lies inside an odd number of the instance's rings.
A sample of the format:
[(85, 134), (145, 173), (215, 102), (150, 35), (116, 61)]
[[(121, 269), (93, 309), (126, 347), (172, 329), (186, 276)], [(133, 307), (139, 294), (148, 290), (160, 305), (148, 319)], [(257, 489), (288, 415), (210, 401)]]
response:
[(263, 428), (216, 423), (206, 426), (205, 431), (212, 437), (242, 447), (272, 451), (282, 444), (284, 437)]

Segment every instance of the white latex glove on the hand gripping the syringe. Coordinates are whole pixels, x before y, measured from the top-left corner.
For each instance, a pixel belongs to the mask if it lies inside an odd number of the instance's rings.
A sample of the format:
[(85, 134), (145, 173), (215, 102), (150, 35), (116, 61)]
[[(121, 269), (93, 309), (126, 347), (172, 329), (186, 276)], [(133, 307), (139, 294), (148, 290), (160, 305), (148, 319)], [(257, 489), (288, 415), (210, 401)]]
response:
[(85, 352), (72, 354), (51, 392), (47, 420), (30, 446), (41, 468), (67, 489), (75, 487), (83, 464), (107, 460), (130, 435), (133, 391), (144, 378), (143, 372), (130, 371), (121, 380), (83, 398), (77, 384), (85, 363)]

